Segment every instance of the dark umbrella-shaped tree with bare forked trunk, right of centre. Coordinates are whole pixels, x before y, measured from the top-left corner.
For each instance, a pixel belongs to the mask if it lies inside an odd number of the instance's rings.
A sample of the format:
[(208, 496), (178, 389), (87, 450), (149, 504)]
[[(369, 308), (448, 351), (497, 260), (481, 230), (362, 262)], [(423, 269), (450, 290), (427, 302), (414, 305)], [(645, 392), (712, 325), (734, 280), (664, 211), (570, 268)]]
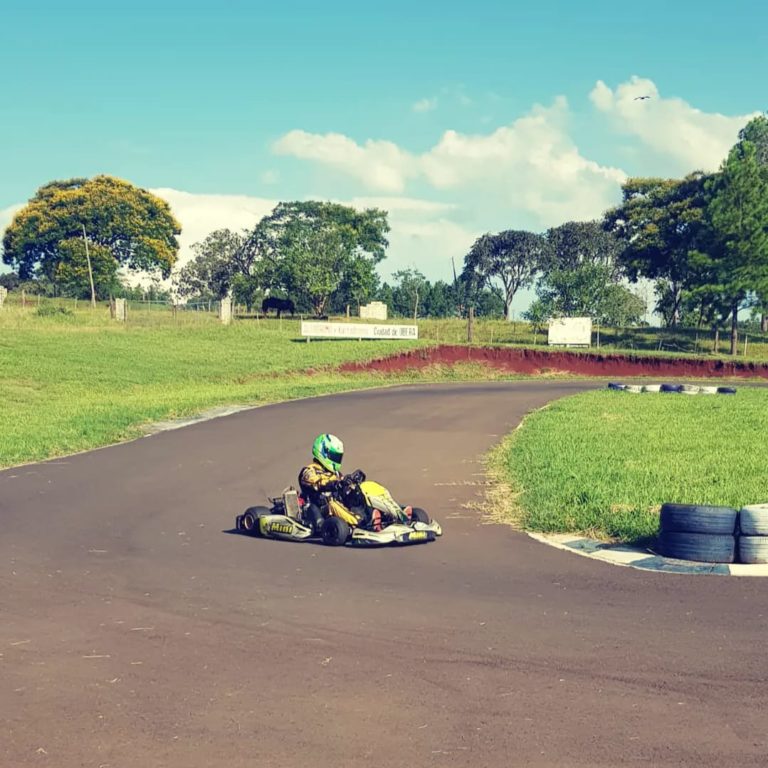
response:
[(474, 292), (497, 290), (509, 320), (515, 294), (533, 282), (548, 253), (546, 238), (533, 232), (507, 230), (479, 237), (464, 257), (462, 279)]

